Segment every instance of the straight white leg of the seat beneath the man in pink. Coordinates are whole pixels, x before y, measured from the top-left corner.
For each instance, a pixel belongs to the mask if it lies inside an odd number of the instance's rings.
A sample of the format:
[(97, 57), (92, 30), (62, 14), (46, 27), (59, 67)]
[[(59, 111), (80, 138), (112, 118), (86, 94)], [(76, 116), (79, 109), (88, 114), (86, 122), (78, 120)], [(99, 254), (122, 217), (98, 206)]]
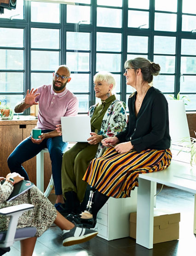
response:
[(44, 151), (36, 156), (36, 186), (44, 192)]

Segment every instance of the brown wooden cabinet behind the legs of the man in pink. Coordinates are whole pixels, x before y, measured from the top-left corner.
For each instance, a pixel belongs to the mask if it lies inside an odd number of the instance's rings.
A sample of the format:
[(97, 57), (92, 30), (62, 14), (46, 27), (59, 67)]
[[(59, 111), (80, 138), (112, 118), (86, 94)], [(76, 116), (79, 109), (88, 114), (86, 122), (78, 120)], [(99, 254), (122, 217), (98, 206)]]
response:
[[(30, 135), (32, 128), (37, 124), (37, 119), (28, 120), (29, 116), (20, 116), (20, 119), (0, 121), (0, 176), (3, 177), (10, 172), (7, 158), (15, 147)], [(36, 184), (36, 157), (24, 162), (23, 167), (29, 175), (29, 180)], [(48, 153), (45, 154), (44, 170), (44, 188), (46, 189), (51, 177), (51, 160)]]

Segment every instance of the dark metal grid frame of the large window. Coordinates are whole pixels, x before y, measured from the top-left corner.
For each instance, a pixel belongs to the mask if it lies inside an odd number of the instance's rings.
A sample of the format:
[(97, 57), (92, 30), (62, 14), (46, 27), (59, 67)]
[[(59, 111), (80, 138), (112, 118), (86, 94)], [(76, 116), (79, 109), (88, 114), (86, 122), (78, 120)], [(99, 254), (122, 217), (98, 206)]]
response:
[[(90, 33), (90, 50), (89, 51), (78, 51), (78, 52), (89, 52), (90, 59), (89, 59), (89, 71), (77, 71), (77, 70), (71, 70), (73, 73), (80, 73), (80, 74), (89, 74), (89, 92), (88, 93), (80, 93), (75, 92), (75, 95), (88, 95), (89, 101), (88, 105), (91, 106), (95, 104), (95, 93), (94, 93), (94, 86), (93, 86), (93, 76), (96, 73), (96, 54), (97, 53), (120, 53), (121, 54), (121, 71), (120, 72), (112, 72), (114, 74), (121, 75), (121, 84), (120, 84), (120, 93), (117, 93), (120, 95), (120, 99), (124, 102), (126, 102), (127, 93), (126, 90), (126, 79), (123, 76), (124, 73), (124, 62), (127, 59), (127, 54), (135, 54), (137, 55), (146, 55), (146, 53), (134, 53), (134, 52), (127, 52), (127, 37), (128, 36), (147, 36), (148, 37), (148, 52), (147, 56), (150, 60), (154, 60), (155, 55), (167, 55), (170, 56), (170, 54), (155, 54), (154, 53), (154, 36), (161, 35), (161, 36), (174, 36), (176, 37), (176, 44), (175, 44), (175, 54), (172, 54), (171, 56), (175, 56), (175, 71), (173, 73), (160, 73), (161, 75), (175, 75), (174, 80), (174, 89), (171, 91), (168, 91), (164, 94), (173, 94), (174, 97), (177, 96), (177, 94), (180, 91), (180, 60), (181, 56), (194, 56), (196, 55), (184, 55), (181, 54), (181, 40), (182, 39), (195, 39), (195, 34), (191, 33), (190, 31), (182, 31), (182, 15), (191, 15), (196, 16), (196, 14), (187, 14), (182, 13), (182, 1), (178, 0), (178, 6), (177, 6), (177, 12), (168, 12), (168, 11), (158, 11), (155, 10), (155, 0), (150, 0), (149, 9), (133, 9), (128, 8), (128, 0), (122, 1), (122, 6), (100, 6), (97, 5), (96, 0), (91, 0), (91, 4), (79, 4), (80, 6), (90, 6), (91, 9), (91, 23), (90, 24), (80, 24), (79, 25), (79, 32), (88, 32)], [(67, 52), (74, 52), (74, 50), (67, 50), (66, 49), (66, 33), (67, 32), (75, 32), (75, 24), (74, 23), (67, 23), (67, 6), (60, 4), (60, 23), (38, 23), (38, 22), (31, 22), (31, 3), (30, 1), (24, 1), (24, 19), (13, 19), (8, 20), (4, 18), (0, 18), (0, 27), (3, 28), (18, 28), (18, 29), (24, 29), (24, 45), (23, 47), (13, 47), (14, 49), (23, 49), (24, 51), (24, 60), (23, 60), (23, 92), (0, 92), (0, 97), (3, 95), (25, 95), (27, 89), (31, 88), (31, 73), (51, 73), (54, 70), (31, 70), (31, 51), (58, 51), (59, 52), (59, 65), (60, 64), (66, 64), (66, 53)], [(115, 9), (121, 9), (122, 10), (122, 28), (107, 28), (107, 27), (97, 27), (97, 7), (103, 7), (103, 8), (115, 8)], [(128, 11), (134, 10), (134, 11), (145, 11), (149, 12), (149, 28), (131, 28), (128, 27)], [(154, 22), (155, 22), (155, 13), (175, 13), (177, 14), (177, 31), (157, 31), (154, 29)], [(31, 28), (43, 28), (43, 29), (59, 29), (59, 49), (40, 49), (40, 48), (31, 48)], [(121, 51), (120, 52), (110, 52), (110, 51), (97, 51), (97, 43), (96, 43), (96, 35), (97, 32), (110, 32), (110, 33), (120, 33), (121, 34)], [(0, 47), (0, 49), (10, 49), (10, 47)], [(21, 72), (21, 70), (0, 70), (0, 72)], [(183, 74), (186, 76), (186, 74)], [(187, 74), (188, 76), (196, 76), (196, 74)], [(196, 91), (194, 92), (180, 92), (181, 94), (196, 94)], [(194, 106), (195, 109), (191, 111), (196, 111), (196, 105)], [(80, 112), (81, 113), (81, 112)], [(86, 113), (86, 112), (85, 112)], [(27, 109), (24, 111), (25, 115), (30, 114), (30, 109)]]

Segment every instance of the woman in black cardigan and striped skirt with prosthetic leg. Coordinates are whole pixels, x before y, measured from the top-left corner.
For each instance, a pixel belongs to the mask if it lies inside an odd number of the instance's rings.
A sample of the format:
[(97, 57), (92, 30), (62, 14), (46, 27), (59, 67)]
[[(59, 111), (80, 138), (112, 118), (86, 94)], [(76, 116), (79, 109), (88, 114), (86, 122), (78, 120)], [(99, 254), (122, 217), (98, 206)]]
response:
[(159, 64), (145, 58), (126, 61), (127, 85), (136, 91), (128, 99), (129, 122), (125, 131), (102, 140), (109, 147), (102, 157), (93, 159), (83, 177), (96, 189), (92, 214), (68, 215), (83, 226), (94, 227), (99, 209), (110, 197), (130, 197), (138, 186), (140, 173), (166, 169), (171, 162), (168, 105), (163, 93), (151, 86)]

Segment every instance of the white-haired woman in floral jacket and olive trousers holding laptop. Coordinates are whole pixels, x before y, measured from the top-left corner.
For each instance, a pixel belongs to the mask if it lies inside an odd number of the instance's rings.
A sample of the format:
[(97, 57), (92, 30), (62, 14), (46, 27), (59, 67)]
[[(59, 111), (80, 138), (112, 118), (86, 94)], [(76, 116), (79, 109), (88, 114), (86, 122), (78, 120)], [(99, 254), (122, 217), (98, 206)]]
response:
[[(127, 113), (121, 101), (112, 93), (114, 76), (110, 72), (98, 72), (94, 77), (95, 96), (101, 102), (89, 109), (91, 131), (86, 142), (78, 142), (63, 154), (62, 190), (66, 198), (63, 215), (81, 213), (81, 202), (85, 196), (86, 182), (82, 180), (90, 161), (103, 154), (105, 146), (101, 140), (114, 136), (125, 129)], [(57, 128), (61, 132), (60, 127)], [(85, 205), (86, 206), (86, 205)]]

